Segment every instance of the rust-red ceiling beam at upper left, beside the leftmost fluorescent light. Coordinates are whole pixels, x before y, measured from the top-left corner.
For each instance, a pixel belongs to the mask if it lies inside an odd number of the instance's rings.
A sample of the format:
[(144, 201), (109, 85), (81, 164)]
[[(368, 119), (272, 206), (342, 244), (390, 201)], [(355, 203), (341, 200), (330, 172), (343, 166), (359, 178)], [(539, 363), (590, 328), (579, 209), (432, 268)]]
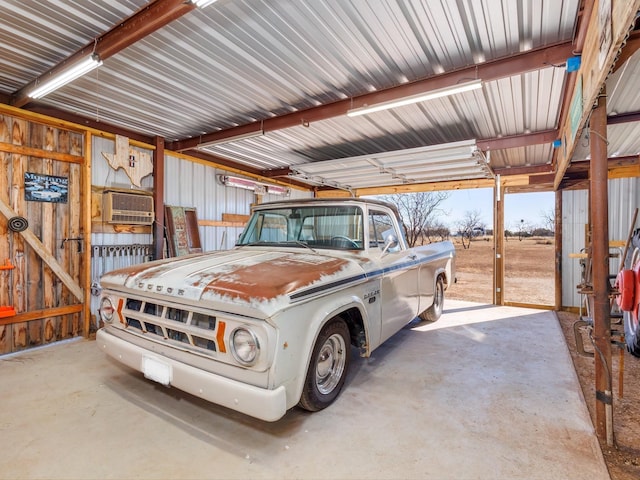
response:
[(16, 91), (11, 96), (11, 105), (23, 107), (30, 103), (29, 92), (37, 83), (46, 81), (78, 60), (97, 53), (104, 61), (195, 8), (195, 4), (185, 0), (155, 0), (149, 3)]

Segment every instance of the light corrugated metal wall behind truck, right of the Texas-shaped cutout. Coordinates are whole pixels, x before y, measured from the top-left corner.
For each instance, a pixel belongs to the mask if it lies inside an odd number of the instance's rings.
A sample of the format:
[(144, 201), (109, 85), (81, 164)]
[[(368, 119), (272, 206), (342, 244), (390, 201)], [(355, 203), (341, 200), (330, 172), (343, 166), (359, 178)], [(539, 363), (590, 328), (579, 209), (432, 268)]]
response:
[[(167, 205), (195, 207), (198, 220), (222, 220), (223, 213), (248, 215), (254, 193), (222, 185), (217, 175), (223, 170), (198, 162), (167, 155), (165, 158), (164, 201)], [(308, 198), (311, 192), (291, 189), (289, 198)], [(263, 195), (263, 202), (282, 200), (278, 195)], [(200, 227), (203, 251), (232, 248), (242, 227)]]

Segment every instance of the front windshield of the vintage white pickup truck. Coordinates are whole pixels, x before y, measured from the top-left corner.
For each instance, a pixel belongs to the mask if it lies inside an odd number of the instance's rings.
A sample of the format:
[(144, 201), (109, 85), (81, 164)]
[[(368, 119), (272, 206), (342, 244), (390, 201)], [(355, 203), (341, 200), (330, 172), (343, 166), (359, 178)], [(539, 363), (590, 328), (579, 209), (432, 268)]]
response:
[(253, 213), (236, 245), (362, 250), (364, 223), (358, 206), (300, 206)]

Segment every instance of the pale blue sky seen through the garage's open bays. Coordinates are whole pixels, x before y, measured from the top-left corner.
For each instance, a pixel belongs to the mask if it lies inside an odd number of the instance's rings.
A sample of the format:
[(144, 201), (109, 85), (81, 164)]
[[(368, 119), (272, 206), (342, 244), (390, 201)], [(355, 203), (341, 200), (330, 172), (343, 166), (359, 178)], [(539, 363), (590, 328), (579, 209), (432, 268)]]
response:
[[(468, 211), (478, 210), (486, 228), (493, 228), (493, 189), (472, 188), (451, 191), (451, 196), (440, 204), (443, 214), (439, 220), (452, 228)], [(541, 212), (555, 209), (554, 192), (510, 193), (504, 199), (504, 228), (517, 230), (524, 220), (531, 226), (545, 227)]]

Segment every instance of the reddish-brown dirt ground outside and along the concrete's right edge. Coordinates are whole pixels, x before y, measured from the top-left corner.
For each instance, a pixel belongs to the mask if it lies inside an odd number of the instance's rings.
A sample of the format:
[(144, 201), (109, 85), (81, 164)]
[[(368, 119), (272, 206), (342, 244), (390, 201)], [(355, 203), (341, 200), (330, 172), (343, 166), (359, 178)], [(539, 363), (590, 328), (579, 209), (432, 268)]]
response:
[[(471, 248), (456, 243), (458, 282), (447, 290), (446, 298), (492, 303), (493, 241), (479, 238)], [(510, 239), (505, 244), (505, 292), (507, 302), (553, 305), (555, 293), (555, 247), (553, 240)], [(446, 309), (446, 303), (445, 303)], [(577, 354), (573, 324), (575, 313), (557, 312), (565, 334), (592, 421), (595, 421), (595, 380), (593, 358)], [(614, 327), (615, 328), (615, 327)], [(589, 351), (588, 336), (585, 349)], [(621, 356), (622, 354), (622, 356)], [(621, 367), (622, 376), (621, 376)], [(640, 358), (617, 346), (612, 347), (613, 416), (615, 446), (602, 444), (602, 453), (612, 480), (640, 478)], [(621, 381), (622, 379), (622, 381)], [(620, 390), (622, 386), (622, 390)], [(621, 395), (622, 394), (622, 395)], [(567, 465), (571, 476), (571, 466)]]

